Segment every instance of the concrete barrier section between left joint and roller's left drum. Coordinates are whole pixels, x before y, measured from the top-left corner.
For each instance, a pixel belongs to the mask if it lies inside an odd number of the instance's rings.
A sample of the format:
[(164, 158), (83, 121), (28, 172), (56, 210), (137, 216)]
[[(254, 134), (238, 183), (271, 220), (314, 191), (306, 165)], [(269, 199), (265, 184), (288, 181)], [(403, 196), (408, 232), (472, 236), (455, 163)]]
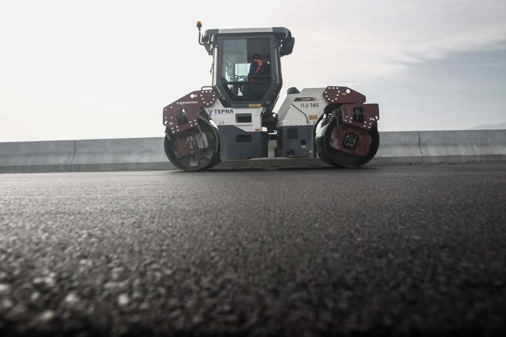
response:
[(176, 168), (163, 150), (163, 137), (75, 141), (72, 171), (162, 170)]

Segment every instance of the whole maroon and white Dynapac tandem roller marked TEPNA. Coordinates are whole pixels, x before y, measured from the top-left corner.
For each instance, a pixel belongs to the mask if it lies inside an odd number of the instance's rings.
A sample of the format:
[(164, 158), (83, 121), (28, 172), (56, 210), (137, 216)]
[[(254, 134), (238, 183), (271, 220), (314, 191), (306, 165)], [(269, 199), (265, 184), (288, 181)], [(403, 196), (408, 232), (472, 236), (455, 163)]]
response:
[[(377, 104), (349, 87), (295, 87), (273, 112), (283, 84), (281, 57), (295, 39), (283, 27), (210, 29), (198, 42), (213, 56), (213, 85), (163, 109), (165, 153), (178, 168), (209, 169), (228, 159), (316, 158), (336, 167), (360, 167), (377, 152)], [(261, 67), (251, 73), (252, 57)], [(259, 63), (258, 61), (255, 61)], [(259, 63), (260, 65), (260, 63)], [(248, 74), (249, 73), (249, 74)]]

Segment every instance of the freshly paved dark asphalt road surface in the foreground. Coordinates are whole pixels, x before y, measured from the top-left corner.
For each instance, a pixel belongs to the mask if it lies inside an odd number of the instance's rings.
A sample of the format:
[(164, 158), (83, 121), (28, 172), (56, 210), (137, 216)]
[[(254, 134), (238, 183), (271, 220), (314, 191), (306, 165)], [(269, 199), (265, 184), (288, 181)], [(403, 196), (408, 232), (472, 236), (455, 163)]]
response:
[(506, 163), (0, 175), (0, 335), (495, 335)]

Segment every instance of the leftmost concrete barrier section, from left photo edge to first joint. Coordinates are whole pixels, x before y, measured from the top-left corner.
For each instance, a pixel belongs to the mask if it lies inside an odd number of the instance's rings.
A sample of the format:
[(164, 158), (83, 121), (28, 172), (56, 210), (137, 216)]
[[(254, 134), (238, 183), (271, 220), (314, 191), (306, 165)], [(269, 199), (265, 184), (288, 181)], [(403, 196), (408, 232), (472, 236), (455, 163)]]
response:
[(0, 173), (70, 171), (75, 140), (0, 143)]

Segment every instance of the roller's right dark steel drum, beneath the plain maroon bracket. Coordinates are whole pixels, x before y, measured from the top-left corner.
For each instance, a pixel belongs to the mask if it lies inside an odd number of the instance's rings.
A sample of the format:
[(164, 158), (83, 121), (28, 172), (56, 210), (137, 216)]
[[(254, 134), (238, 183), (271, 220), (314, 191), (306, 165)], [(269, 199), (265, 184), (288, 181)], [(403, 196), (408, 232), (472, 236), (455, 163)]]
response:
[(356, 156), (349, 153), (336, 150), (330, 147), (330, 137), (332, 136), (332, 130), (337, 126), (338, 121), (334, 119), (330, 123), (324, 125), (316, 135), (316, 153), (320, 159), (328, 164), (336, 167), (360, 167), (371, 161), (376, 155), (379, 148), (379, 132), (376, 124), (367, 133), (371, 137), (371, 147), (367, 156)]

